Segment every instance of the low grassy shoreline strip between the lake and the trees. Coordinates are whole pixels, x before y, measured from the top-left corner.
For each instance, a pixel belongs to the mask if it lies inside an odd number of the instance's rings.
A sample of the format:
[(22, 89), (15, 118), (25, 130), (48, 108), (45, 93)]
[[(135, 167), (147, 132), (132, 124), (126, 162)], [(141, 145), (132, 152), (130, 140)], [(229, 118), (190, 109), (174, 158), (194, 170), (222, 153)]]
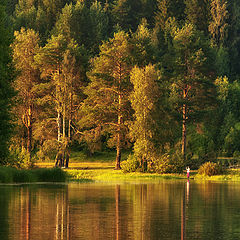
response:
[[(52, 163), (47, 168), (36, 165), (35, 169), (18, 170), (11, 167), (0, 167), (0, 183), (37, 183), (37, 182), (142, 182), (158, 180), (188, 180), (187, 174), (158, 174), (131, 172), (124, 173), (122, 170), (114, 170), (111, 165), (102, 163), (84, 163), (78, 168), (72, 166), (68, 169), (53, 168)], [(240, 182), (239, 170), (228, 170), (224, 175), (205, 176), (190, 173), (190, 180), (194, 181), (218, 181)]]

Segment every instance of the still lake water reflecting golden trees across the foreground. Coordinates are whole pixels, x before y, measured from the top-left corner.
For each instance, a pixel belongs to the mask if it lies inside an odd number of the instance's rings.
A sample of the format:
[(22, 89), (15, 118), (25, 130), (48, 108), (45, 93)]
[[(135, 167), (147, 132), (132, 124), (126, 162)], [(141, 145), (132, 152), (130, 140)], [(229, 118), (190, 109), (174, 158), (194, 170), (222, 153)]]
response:
[(240, 184), (0, 185), (1, 240), (240, 239)]

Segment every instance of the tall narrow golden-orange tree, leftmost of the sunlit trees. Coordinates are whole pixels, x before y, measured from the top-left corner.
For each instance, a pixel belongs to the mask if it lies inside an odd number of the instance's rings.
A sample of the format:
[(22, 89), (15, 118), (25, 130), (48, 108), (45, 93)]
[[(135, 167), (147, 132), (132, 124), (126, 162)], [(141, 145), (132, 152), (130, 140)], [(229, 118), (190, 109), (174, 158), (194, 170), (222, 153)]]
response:
[(19, 118), (22, 119), (22, 123), (27, 129), (27, 146), (24, 146), (25, 140), (23, 140), (22, 147), (27, 149), (31, 156), (33, 119), (36, 113), (35, 85), (39, 83), (40, 78), (34, 59), (39, 50), (39, 37), (34, 30), (25, 30), (24, 28), (20, 32), (16, 31), (14, 36), (13, 60), (18, 71), (14, 81), (15, 90), (18, 93), (16, 114), (21, 115)]

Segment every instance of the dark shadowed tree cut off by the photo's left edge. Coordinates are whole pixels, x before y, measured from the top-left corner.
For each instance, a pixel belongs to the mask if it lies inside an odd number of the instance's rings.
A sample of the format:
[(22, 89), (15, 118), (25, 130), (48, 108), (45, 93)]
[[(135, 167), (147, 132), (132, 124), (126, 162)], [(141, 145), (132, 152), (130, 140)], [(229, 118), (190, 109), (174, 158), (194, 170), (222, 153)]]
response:
[(8, 143), (12, 133), (11, 103), (13, 69), (10, 54), (11, 35), (5, 14), (5, 5), (0, 3), (0, 164), (6, 163)]

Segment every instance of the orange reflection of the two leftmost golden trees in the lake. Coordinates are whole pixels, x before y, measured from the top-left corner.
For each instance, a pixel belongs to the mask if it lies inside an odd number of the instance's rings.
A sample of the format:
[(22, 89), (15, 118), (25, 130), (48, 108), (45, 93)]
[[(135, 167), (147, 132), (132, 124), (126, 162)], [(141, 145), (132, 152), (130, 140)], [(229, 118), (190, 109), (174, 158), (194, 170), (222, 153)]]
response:
[[(6, 217), (13, 239), (68, 239), (66, 196), (67, 186), (14, 188)], [(53, 231), (55, 228), (56, 231)]]

